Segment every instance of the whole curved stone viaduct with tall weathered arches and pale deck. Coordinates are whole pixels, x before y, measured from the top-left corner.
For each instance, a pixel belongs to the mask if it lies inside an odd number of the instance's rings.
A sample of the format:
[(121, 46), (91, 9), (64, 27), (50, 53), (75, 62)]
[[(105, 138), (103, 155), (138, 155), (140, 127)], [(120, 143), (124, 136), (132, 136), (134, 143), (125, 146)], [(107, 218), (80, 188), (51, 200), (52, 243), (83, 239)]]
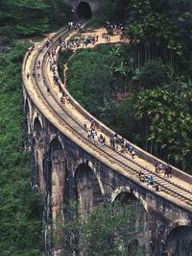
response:
[[(48, 234), (50, 220), (54, 222), (63, 215), (64, 202), (75, 199), (81, 211), (88, 213), (119, 194), (128, 195), (128, 200), (132, 197), (142, 206), (144, 230), (133, 239), (145, 247), (145, 255), (192, 255), (192, 177), (173, 166), (173, 178), (166, 180), (155, 172), (158, 160), (137, 146), (138, 158), (132, 160), (108, 145), (95, 145), (87, 139), (83, 126), (84, 117), (90, 121), (93, 116), (64, 88), (70, 103), (60, 106), (60, 91), (52, 83), (48, 52), (58, 51), (58, 40), (68, 36), (63, 29), (49, 47), (29, 49), (22, 66), (26, 147), (32, 152), (32, 186), (44, 198), (46, 255), (60, 251), (50, 243)], [(39, 69), (36, 62), (41, 64)], [(95, 120), (108, 141), (114, 132)], [(153, 174), (161, 191), (140, 182), (139, 171), (146, 176)]]

